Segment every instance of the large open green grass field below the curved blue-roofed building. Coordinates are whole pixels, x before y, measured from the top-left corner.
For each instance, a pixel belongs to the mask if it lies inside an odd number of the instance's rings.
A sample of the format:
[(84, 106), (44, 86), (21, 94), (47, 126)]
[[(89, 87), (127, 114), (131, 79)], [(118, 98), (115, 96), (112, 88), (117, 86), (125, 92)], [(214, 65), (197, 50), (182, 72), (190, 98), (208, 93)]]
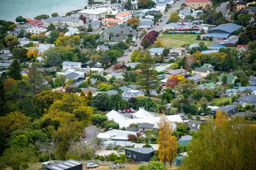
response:
[(195, 40), (198, 34), (159, 34), (157, 40), (163, 42), (163, 45), (170, 47), (180, 47), (184, 44), (199, 44), (204, 42), (208, 47), (212, 41)]

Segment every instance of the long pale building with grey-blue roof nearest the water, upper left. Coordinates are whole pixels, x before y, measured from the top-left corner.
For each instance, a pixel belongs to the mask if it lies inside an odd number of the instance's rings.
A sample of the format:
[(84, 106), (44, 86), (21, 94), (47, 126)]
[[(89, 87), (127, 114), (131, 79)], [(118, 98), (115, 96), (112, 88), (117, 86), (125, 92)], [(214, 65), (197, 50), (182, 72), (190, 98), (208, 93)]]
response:
[(51, 17), (44, 20), (44, 25), (49, 26), (53, 24), (54, 26), (70, 26), (70, 27), (79, 27), (84, 25), (84, 21), (75, 19), (75, 18), (66, 18), (66, 17)]

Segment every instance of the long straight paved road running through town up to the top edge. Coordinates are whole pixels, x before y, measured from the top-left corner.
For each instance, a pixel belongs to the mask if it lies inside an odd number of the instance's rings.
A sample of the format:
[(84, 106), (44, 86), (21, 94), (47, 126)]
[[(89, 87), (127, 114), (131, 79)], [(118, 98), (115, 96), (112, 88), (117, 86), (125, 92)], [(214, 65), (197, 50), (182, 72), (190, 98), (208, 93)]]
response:
[[(160, 31), (160, 30), (163, 28), (163, 26), (166, 25), (166, 22), (169, 20), (169, 17), (170, 17), (170, 15), (172, 14), (172, 12), (177, 11), (177, 10), (180, 8), (181, 4), (183, 4), (183, 3), (185, 3), (185, 0), (177, 1), (177, 2), (172, 6), (172, 8), (170, 8), (170, 9), (168, 10), (168, 12), (166, 13), (166, 16), (167, 16), (167, 17), (163, 17), (163, 18), (162, 18), (162, 19), (163, 19), (163, 22), (159, 22), (159, 25), (158, 25), (158, 26), (157, 26), (157, 25), (153, 26), (153, 28), (151, 28), (150, 30), (147, 30), (147, 32), (153, 31), (153, 30), (154, 30), (154, 31)], [(142, 38), (141, 38), (138, 42), (136, 42), (137, 47), (134, 47), (134, 46), (133, 46), (133, 47), (131, 48), (132, 51), (138, 49), (139, 47), (142, 48), (141, 45), (140, 45), (141, 41), (142, 41)], [(129, 51), (125, 52), (125, 53), (127, 53), (128, 55), (127, 55), (127, 56), (122, 56), (122, 57), (118, 58), (116, 64), (121, 64), (123, 60), (125, 60), (125, 63), (127, 63), (127, 62), (131, 59), (132, 51), (131, 51), (131, 52), (129, 52)], [(104, 71), (111, 73), (111, 72), (113, 71), (113, 66), (107, 68), (107, 69), (104, 70)]]

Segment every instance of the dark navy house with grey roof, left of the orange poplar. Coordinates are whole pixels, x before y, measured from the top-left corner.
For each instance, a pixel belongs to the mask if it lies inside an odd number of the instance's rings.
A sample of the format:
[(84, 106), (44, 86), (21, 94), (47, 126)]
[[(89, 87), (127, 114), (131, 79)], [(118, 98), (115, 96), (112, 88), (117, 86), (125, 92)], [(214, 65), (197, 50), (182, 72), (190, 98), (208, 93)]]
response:
[(150, 161), (151, 157), (153, 156), (153, 149), (152, 147), (143, 147), (143, 148), (124, 148), (125, 155), (129, 159), (133, 159), (136, 162)]

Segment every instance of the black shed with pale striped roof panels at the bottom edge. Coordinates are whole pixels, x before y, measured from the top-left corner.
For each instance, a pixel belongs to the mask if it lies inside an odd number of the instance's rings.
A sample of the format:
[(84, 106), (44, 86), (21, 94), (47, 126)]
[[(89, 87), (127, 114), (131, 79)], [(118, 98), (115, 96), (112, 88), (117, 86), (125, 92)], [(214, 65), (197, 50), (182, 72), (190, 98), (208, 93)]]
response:
[(53, 164), (46, 167), (47, 170), (83, 170), (83, 164), (73, 159)]

